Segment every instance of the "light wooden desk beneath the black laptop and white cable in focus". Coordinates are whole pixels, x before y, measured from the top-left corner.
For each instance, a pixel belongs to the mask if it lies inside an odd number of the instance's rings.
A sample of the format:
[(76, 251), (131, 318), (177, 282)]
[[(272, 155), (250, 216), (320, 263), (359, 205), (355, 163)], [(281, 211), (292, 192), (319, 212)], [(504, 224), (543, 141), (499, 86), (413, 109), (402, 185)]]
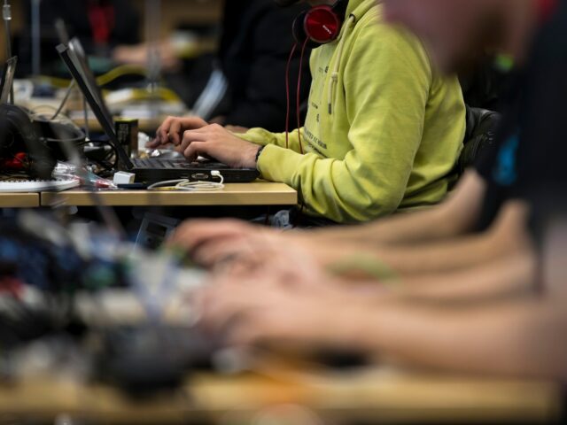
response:
[[(98, 192), (109, 206), (237, 206), (297, 205), (298, 194), (283, 183), (252, 182), (227, 184), (218, 192), (159, 192), (147, 190), (113, 190)], [(41, 205), (50, 206), (63, 200), (67, 205), (92, 206), (93, 199), (84, 190), (67, 190), (58, 194), (44, 192)]]

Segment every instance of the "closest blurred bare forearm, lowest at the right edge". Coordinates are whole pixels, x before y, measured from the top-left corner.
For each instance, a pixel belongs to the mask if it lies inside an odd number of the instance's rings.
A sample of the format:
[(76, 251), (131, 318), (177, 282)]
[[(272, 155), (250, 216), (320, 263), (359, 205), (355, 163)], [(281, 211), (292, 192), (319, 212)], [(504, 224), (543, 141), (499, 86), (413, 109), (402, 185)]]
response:
[(562, 312), (536, 299), (448, 311), (382, 305), (358, 309), (335, 329), (345, 346), (408, 366), (565, 379)]

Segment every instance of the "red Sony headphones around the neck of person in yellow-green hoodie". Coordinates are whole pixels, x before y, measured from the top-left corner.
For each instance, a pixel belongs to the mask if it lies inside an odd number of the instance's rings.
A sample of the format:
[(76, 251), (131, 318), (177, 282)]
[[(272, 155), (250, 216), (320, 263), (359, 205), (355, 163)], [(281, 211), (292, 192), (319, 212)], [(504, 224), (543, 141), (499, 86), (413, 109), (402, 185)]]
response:
[(345, 21), (348, 0), (338, 0), (332, 6), (323, 4), (302, 12), (293, 21), (293, 37), (299, 45), (317, 47), (337, 39)]

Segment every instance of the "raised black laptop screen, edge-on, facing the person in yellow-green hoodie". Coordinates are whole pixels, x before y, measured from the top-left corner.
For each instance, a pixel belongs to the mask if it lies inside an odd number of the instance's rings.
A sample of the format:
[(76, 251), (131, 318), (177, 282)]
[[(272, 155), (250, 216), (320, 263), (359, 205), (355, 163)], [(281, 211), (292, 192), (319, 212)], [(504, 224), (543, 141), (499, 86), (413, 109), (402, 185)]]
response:
[(118, 143), (118, 138), (114, 132), (113, 121), (107, 119), (105, 112), (103, 112), (101, 105), (97, 101), (97, 86), (93, 86), (93, 84), (89, 82), (88, 77), (85, 75), (85, 70), (82, 69), (81, 61), (77, 58), (73, 50), (65, 44), (59, 44), (57, 50), (69, 70), (69, 73), (73, 76), (74, 81), (77, 82), (79, 89), (81, 89), (82, 95), (87, 99), (90, 109), (92, 109), (98, 122), (105, 130), (105, 134), (109, 137), (111, 143), (113, 143), (114, 149), (118, 153), (120, 164), (127, 169), (131, 169), (133, 167), (132, 162), (130, 158), (128, 158), (126, 151), (124, 151), (120, 143)]

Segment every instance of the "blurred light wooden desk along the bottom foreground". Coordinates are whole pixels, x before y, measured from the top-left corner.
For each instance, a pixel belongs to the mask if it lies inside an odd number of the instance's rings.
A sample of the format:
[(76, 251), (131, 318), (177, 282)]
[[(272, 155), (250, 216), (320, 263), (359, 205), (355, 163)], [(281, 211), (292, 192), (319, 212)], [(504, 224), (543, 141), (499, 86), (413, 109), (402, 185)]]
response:
[(290, 405), (305, 406), (320, 423), (338, 425), (548, 423), (560, 416), (561, 395), (552, 383), (388, 371), (299, 381), (198, 375), (175, 393), (137, 401), (101, 384), (45, 379), (0, 385), (0, 418), (14, 423), (22, 418), (53, 423), (65, 413), (106, 424), (252, 424), (260, 423), (253, 420), (259, 412)]

